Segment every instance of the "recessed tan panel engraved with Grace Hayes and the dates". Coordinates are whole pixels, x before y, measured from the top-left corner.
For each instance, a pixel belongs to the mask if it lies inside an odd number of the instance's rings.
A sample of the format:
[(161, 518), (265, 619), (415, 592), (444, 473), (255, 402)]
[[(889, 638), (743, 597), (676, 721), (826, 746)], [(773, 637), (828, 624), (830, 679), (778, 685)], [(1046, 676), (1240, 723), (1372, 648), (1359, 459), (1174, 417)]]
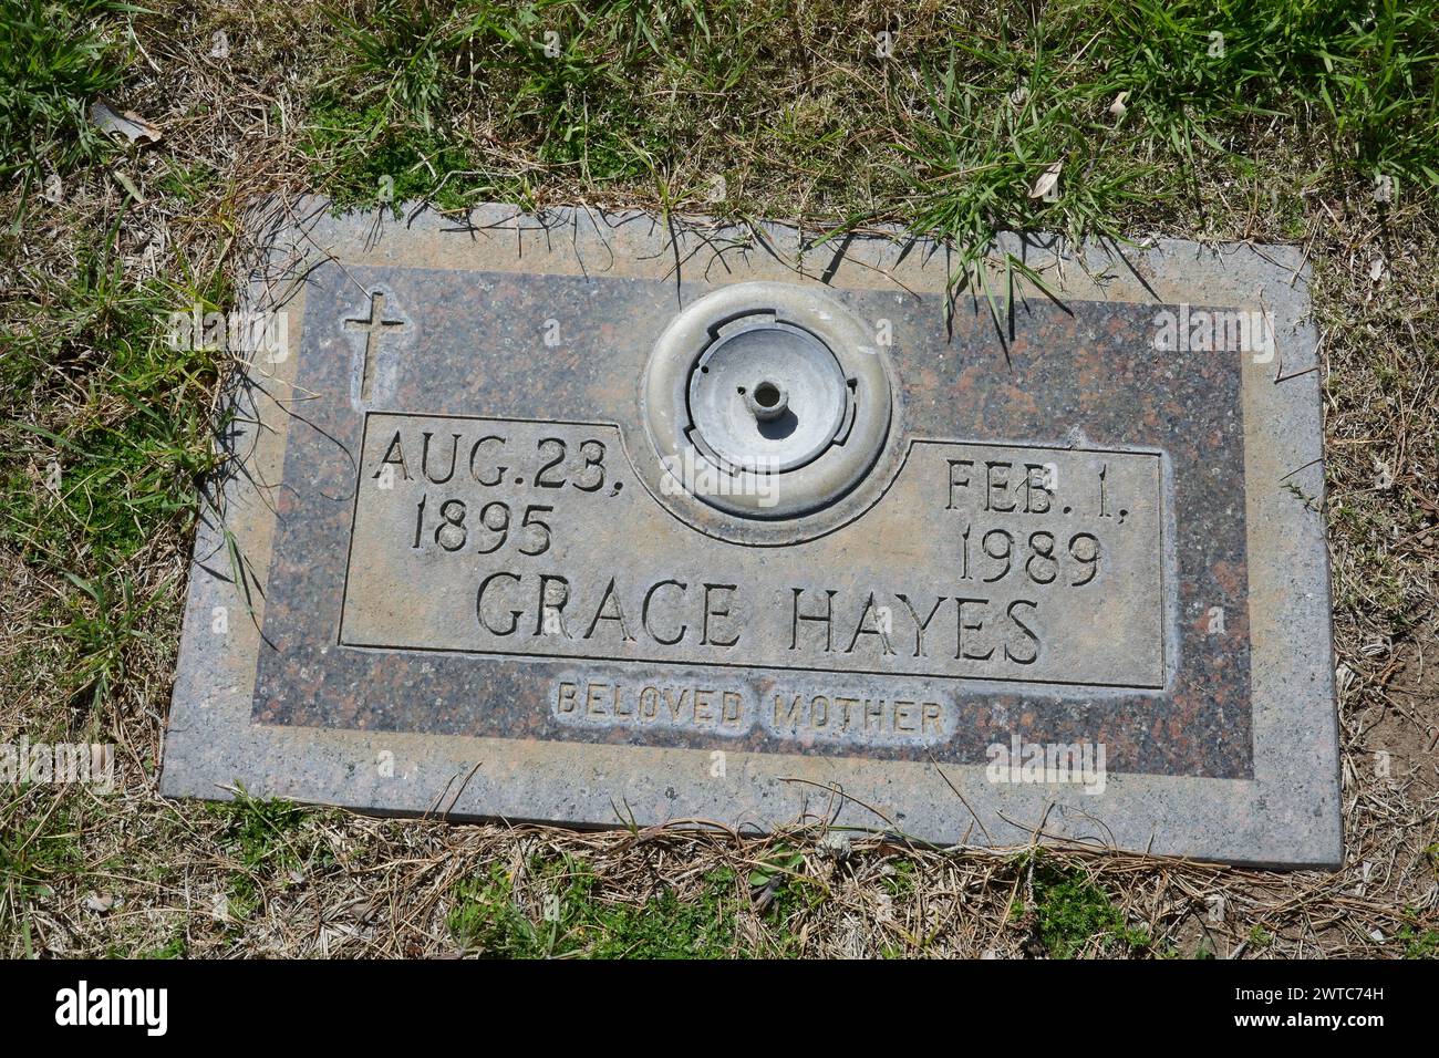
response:
[(918, 440), (863, 517), (744, 548), (603, 423), (367, 416), (341, 643), (1160, 687), (1153, 452)]

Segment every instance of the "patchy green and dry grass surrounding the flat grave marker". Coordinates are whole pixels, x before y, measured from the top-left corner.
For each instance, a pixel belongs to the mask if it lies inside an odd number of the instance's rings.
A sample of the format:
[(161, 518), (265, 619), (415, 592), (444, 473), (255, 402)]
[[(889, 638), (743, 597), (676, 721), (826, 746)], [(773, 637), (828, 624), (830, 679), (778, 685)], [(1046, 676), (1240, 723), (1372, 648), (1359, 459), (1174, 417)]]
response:
[[(1066, 957), (1215, 956), (1248, 940), (1250, 956), (1433, 956), (1429, 777), (1381, 787), (1367, 764), (1376, 720), (1415, 717), (1423, 734), (1429, 715), (1423, 688), (1396, 700), (1394, 674), (1423, 668), (1436, 612), (1432, 6), (145, 7), (0, 3), (0, 737), (112, 741), (122, 786), (86, 815), (65, 792), (0, 790), (0, 949)], [(229, 56), (197, 55), (222, 29)], [(99, 95), (164, 138), (101, 137), (86, 117)], [(52, 176), (59, 202), (42, 194)], [(1325, 335), (1337, 645), (1353, 674), (1350, 838), (1394, 865), (1376, 872), (1392, 888), (1356, 898), (1353, 869), (1275, 880), (879, 842), (840, 862), (806, 835), (537, 836), (160, 800), (196, 488), (229, 361), (173, 348), (165, 320), (235, 307), (239, 209), (276, 190), (337, 207), (781, 217), (816, 239), (899, 222), (954, 240), (955, 284), (984, 275), (973, 266), (1002, 227), (1304, 243)], [(145, 914), (86, 910), (115, 891)], [(1194, 940), (1204, 891), (1242, 892), (1243, 911)], [(212, 914), (216, 897), (227, 914)]]

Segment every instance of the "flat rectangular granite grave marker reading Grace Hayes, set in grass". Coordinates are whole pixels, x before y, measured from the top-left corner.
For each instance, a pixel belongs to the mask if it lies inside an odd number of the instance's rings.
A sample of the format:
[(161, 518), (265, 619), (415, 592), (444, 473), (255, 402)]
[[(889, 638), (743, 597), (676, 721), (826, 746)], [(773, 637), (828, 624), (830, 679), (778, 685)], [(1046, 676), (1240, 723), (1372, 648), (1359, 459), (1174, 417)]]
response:
[(1340, 861), (1297, 250), (301, 206), (168, 795)]

